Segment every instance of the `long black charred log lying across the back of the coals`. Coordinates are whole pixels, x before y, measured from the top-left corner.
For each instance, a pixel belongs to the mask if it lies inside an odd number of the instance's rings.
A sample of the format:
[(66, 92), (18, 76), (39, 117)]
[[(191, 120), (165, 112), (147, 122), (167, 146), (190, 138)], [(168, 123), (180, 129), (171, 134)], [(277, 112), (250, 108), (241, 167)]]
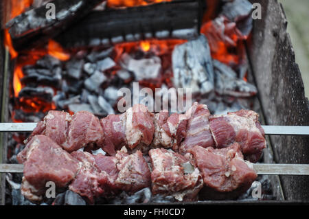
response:
[(192, 38), (198, 35), (198, 1), (172, 1), (91, 12), (60, 34), (64, 47), (110, 46), (144, 38)]

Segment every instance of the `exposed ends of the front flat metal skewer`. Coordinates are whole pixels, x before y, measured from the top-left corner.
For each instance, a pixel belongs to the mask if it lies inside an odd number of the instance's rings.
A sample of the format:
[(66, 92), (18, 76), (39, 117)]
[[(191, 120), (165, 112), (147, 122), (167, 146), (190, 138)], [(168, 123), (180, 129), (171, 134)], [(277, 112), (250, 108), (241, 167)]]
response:
[[(252, 165), (259, 175), (309, 175), (309, 164), (252, 163)], [(0, 172), (22, 173), (23, 165), (0, 164)]]

